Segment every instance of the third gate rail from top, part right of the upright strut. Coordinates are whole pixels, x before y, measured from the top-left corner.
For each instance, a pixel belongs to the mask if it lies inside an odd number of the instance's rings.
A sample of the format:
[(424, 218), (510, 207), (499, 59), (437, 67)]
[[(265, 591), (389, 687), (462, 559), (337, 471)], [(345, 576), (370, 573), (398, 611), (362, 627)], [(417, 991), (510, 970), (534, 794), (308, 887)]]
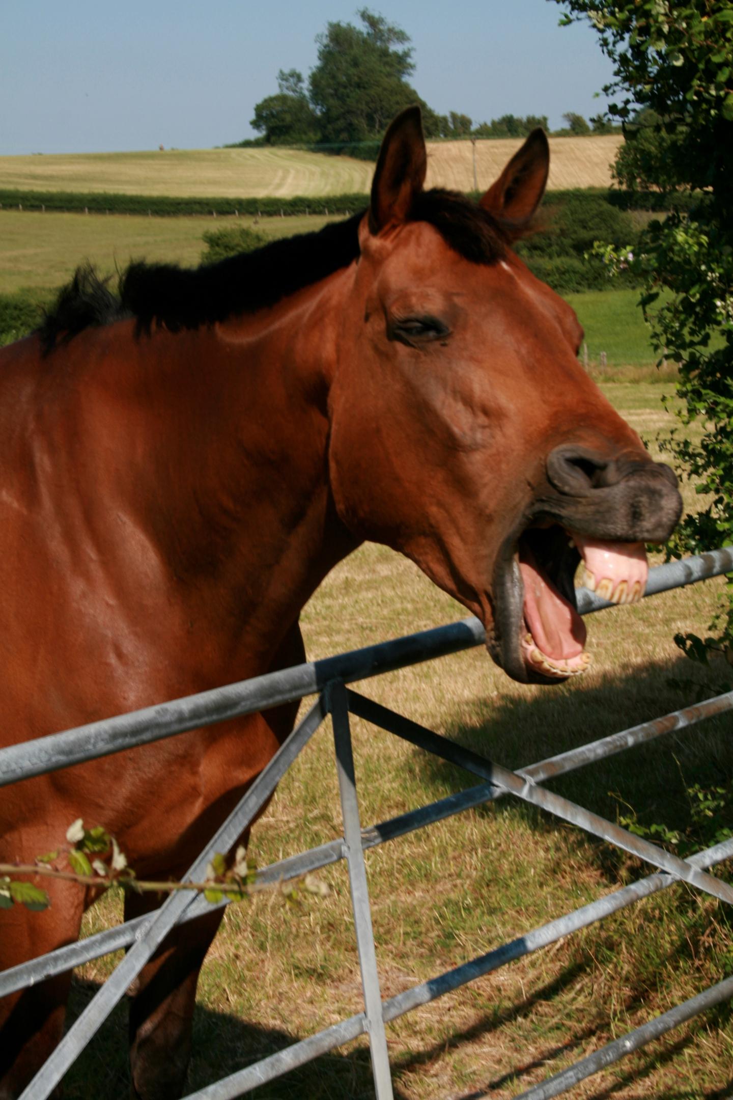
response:
[[(690, 856), (690, 862), (695, 867), (712, 867), (714, 864), (720, 864), (732, 857), (733, 840), (724, 840), (712, 848)], [(525, 955), (548, 947), (549, 944), (557, 943), (558, 939), (563, 939), (574, 932), (579, 932), (580, 928), (587, 928), (589, 925), (610, 916), (611, 913), (633, 905), (642, 898), (648, 898), (660, 890), (668, 890), (677, 881), (678, 879), (670, 875), (657, 872), (614, 890), (613, 893), (606, 894), (604, 898), (599, 898), (587, 905), (580, 905), (574, 912), (533, 928), (523, 936), (518, 936), (515, 939), (487, 952), (486, 955), (479, 955), (453, 970), (446, 970), (445, 974), (438, 975), (436, 978), (431, 978), (420, 986), (413, 986), (412, 989), (406, 989), (402, 993), (390, 998), (384, 1004), (385, 1020), (387, 1022), (397, 1020), (398, 1016), (412, 1012), (421, 1004), (427, 1004), (445, 993), (452, 993), (469, 981), (481, 978), (492, 970), (498, 970), (508, 963), (513, 963)]]

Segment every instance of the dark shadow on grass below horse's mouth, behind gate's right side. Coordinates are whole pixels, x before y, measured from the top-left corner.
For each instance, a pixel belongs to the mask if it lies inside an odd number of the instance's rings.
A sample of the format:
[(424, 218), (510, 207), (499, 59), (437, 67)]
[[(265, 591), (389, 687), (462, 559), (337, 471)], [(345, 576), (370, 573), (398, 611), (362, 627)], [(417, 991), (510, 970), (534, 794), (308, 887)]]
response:
[[(730, 671), (723, 666), (706, 678), (703, 670), (680, 656), (670, 663), (641, 666), (633, 676), (595, 678), (588, 686), (570, 682), (530, 691), (525, 697), (512, 693), (477, 700), (470, 721), (448, 727), (446, 735), (517, 769), (730, 690)], [(703, 694), (698, 694), (700, 689), (704, 689)], [(729, 712), (548, 780), (545, 785), (611, 821), (637, 815), (644, 825), (664, 823), (670, 829), (685, 829), (690, 818), (689, 785), (733, 782), (730, 728)], [(420, 772), (434, 798), (477, 782), (427, 754), (422, 754)], [(514, 799), (479, 812), (507, 812), (510, 807), (538, 832), (556, 827), (554, 818)], [(618, 866), (614, 854), (599, 858), (610, 859), (602, 869), (612, 878)]]

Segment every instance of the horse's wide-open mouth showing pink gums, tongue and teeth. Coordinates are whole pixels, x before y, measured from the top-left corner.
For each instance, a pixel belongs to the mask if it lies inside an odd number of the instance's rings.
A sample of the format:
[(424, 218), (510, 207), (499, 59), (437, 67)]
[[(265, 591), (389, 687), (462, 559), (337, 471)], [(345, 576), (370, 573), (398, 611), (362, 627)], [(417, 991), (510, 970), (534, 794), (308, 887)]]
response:
[(497, 591), (501, 664), (518, 680), (540, 682), (579, 675), (590, 664), (586, 627), (578, 615), (575, 574), (614, 604), (644, 594), (643, 542), (611, 542), (557, 524), (530, 527), (503, 559)]

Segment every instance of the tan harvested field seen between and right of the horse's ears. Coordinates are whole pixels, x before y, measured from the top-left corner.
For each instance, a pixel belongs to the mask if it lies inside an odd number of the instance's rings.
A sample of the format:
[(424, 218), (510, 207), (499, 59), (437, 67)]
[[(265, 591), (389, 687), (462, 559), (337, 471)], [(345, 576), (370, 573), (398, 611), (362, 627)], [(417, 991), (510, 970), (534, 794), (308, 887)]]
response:
[[(609, 187), (611, 165), (622, 134), (598, 138), (551, 138), (551, 190), (566, 187)], [(507, 162), (522, 145), (522, 139), (500, 138), (476, 142), (476, 178), (479, 190), (500, 175)], [(1, 172), (1, 169), (0, 169)], [(427, 182), (432, 187), (457, 191), (474, 189), (474, 151), (468, 141), (427, 142)]]

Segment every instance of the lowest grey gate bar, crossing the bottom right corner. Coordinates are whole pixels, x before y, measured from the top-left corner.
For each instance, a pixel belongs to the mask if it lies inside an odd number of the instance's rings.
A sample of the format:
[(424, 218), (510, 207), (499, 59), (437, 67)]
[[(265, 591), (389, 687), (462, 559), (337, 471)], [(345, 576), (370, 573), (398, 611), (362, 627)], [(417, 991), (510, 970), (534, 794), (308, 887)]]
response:
[(675, 1005), (669, 1012), (664, 1012), (660, 1016), (642, 1024), (641, 1027), (635, 1027), (621, 1038), (617, 1038), (608, 1046), (596, 1050), (595, 1054), (588, 1055), (587, 1058), (576, 1062), (574, 1066), (547, 1078), (542, 1085), (535, 1085), (534, 1088), (520, 1093), (518, 1100), (549, 1100), (549, 1097), (565, 1092), (566, 1089), (578, 1085), (579, 1081), (585, 1081), (587, 1077), (592, 1077), (593, 1074), (613, 1065), (614, 1062), (619, 1062), (628, 1054), (638, 1050), (641, 1046), (659, 1038), (660, 1035), (665, 1035), (674, 1027), (679, 1027), (680, 1024), (697, 1016), (700, 1012), (712, 1009), (723, 1001), (729, 1001), (732, 997), (733, 978), (726, 978), (724, 981), (718, 982), (717, 986), (711, 986), (703, 993), (698, 993), (697, 997), (691, 997), (688, 1001)]

